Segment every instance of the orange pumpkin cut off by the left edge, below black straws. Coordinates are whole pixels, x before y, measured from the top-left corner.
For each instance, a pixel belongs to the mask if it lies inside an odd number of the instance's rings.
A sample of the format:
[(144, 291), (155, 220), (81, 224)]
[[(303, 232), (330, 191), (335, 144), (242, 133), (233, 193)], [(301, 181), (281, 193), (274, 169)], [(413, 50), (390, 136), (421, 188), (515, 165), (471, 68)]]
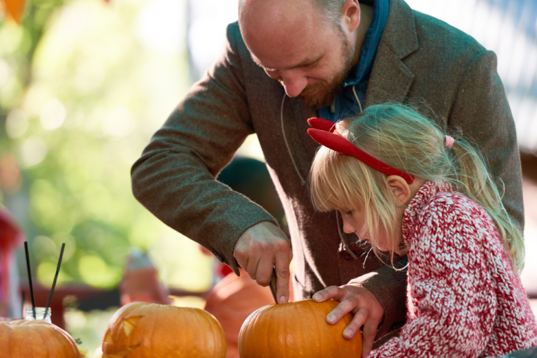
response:
[(73, 338), (42, 320), (0, 322), (0, 352), (9, 358), (80, 358)]

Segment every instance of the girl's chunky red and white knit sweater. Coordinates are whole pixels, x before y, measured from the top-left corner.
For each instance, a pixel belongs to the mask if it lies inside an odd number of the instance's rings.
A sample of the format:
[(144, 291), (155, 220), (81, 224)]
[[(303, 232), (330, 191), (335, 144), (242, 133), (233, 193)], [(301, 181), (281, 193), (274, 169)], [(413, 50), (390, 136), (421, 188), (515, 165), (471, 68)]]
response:
[(403, 214), (408, 321), (370, 357), (489, 357), (537, 345), (537, 322), (485, 209), (426, 182)]

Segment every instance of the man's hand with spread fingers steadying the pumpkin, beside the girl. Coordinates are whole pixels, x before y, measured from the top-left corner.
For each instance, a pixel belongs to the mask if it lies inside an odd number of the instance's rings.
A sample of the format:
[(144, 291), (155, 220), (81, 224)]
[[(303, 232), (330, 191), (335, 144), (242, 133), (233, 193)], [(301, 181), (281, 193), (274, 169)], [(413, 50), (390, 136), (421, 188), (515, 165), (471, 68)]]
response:
[(313, 295), (313, 301), (324, 302), (335, 299), (340, 303), (327, 315), (327, 322), (335, 324), (347, 313), (354, 313), (355, 317), (343, 331), (343, 337), (350, 339), (355, 336), (360, 327), (364, 326), (364, 341), (362, 343), (362, 357), (366, 358), (373, 348), (378, 324), (384, 316), (384, 309), (380, 306), (373, 294), (361, 285), (330, 286)]

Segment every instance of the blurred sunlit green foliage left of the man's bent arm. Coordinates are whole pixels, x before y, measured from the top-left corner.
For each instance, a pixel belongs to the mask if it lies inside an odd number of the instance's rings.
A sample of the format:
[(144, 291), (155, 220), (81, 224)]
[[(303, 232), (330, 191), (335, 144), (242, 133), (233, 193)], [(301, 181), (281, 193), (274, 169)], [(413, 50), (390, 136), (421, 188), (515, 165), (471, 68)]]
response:
[[(179, 11), (159, 18), (166, 6)], [(131, 165), (190, 86), (185, 24), (182, 0), (29, 0), (22, 26), (0, 17), (2, 202), (43, 285), (66, 243), (59, 285), (115, 287), (136, 247), (167, 284), (210, 286), (212, 259), (130, 185)]]

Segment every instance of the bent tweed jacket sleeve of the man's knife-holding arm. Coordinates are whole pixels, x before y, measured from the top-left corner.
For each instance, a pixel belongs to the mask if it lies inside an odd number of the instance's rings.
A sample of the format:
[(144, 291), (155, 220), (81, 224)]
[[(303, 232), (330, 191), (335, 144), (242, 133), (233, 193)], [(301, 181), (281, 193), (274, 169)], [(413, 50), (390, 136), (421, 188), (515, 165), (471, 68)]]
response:
[(238, 27), (229, 25), (222, 57), (192, 86), (131, 169), (136, 199), (237, 275), (238, 237), (259, 222), (277, 224), (256, 203), (215, 180), (253, 133), (238, 36)]

